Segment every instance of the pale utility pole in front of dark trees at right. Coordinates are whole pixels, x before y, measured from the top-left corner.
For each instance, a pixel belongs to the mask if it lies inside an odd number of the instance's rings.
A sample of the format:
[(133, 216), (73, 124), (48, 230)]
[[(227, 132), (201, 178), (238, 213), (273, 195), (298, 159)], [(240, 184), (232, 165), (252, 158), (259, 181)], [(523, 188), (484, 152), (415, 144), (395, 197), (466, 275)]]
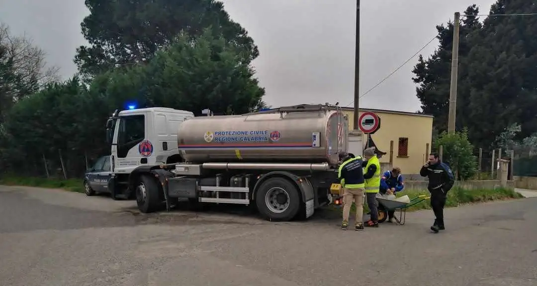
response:
[(455, 12), (453, 23), (453, 49), (451, 55), (451, 87), (449, 88), (449, 114), (447, 119), (447, 133), (455, 133), (455, 116), (457, 114), (457, 77), (459, 75), (459, 27), (461, 14)]

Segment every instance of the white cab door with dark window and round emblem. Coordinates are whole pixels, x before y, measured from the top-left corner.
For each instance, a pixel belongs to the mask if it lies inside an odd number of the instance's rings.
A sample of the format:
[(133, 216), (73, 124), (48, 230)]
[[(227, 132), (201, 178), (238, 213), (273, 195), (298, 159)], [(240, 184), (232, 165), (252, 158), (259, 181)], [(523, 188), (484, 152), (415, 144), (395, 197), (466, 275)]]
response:
[(136, 167), (147, 164), (148, 157), (153, 154), (153, 143), (146, 140), (146, 126), (144, 114), (120, 117), (115, 172), (128, 174)]

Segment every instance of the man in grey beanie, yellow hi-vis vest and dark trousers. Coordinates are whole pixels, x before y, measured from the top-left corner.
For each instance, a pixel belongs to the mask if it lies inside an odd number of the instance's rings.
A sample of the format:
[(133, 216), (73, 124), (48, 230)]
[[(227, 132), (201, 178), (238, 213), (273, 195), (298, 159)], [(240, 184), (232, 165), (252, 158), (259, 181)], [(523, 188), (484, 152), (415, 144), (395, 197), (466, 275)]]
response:
[(364, 158), (367, 160), (364, 168), (365, 192), (367, 205), (371, 210), (371, 219), (365, 223), (366, 227), (379, 227), (379, 210), (376, 194), (380, 190), (380, 162), (375, 155), (375, 149), (367, 148), (364, 150)]

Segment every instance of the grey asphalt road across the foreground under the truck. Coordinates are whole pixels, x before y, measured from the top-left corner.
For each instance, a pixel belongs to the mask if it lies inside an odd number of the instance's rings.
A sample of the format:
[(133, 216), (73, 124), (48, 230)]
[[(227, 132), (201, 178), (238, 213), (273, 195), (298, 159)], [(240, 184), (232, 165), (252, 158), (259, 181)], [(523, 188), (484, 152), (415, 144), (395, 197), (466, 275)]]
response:
[(134, 201), (0, 186), (0, 285), (537, 285), (537, 198), (342, 231), (316, 211), (271, 223), (236, 209), (143, 215)]

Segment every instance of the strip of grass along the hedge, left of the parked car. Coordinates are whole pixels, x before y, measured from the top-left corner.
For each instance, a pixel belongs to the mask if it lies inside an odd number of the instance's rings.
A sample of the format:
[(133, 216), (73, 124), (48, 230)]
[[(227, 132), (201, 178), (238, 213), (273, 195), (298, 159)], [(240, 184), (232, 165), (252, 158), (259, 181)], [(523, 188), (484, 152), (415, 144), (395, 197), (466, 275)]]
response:
[(4, 176), (0, 178), (0, 185), (45, 187), (47, 189), (63, 189), (71, 192), (84, 192), (83, 179), (56, 179), (40, 177)]

